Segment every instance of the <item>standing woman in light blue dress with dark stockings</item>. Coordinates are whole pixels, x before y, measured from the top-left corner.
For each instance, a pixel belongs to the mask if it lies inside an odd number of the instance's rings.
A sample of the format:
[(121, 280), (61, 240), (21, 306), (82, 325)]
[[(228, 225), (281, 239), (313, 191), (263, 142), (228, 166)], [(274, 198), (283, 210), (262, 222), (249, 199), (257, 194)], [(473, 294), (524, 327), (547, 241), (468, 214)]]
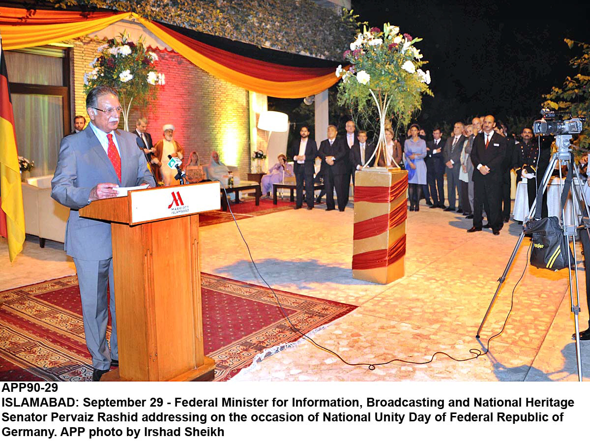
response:
[(409, 210), (418, 211), (421, 186), (426, 184), (426, 141), (418, 136), (420, 126), (412, 124), (409, 127), (410, 138), (405, 140), (405, 167), (408, 170)]

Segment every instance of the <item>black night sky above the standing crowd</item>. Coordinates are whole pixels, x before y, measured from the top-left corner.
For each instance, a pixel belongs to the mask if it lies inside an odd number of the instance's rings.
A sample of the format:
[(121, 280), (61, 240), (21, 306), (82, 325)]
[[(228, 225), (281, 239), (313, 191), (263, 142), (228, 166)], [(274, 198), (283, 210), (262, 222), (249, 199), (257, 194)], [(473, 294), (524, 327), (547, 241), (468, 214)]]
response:
[(390, 22), (424, 38), (417, 47), (434, 98), (424, 98), (417, 121), (427, 130), (476, 114), (534, 119), (542, 94), (575, 74), (576, 52), (563, 39), (590, 42), (590, 6), (581, 2), (353, 0), (352, 9), (371, 26)]

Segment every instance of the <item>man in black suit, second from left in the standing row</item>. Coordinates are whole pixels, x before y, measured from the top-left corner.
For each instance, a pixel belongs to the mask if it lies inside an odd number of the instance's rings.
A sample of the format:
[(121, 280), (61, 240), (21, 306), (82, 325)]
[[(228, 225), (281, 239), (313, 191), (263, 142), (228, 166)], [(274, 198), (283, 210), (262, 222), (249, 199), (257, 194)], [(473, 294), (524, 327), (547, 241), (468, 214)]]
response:
[[(346, 198), (348, 197), (349, 183), (345, 182), (347, 173), (350, 172), (349, 154), (350, 151), (346, 145), (345, 139), (336, 139), (338, 133), (336, 126), (328, 126), (328, 139), (320, 143), (317, 150), (317, 156), (322, 158), (324, 169), (324, 186), (326, 187), (326, 211), (333, 210), (334, 189), (336, 189), (336, 198), (338, 200), (338, 209), (344, 211), (346, 207)], [(346, 197), (345, 197), (346, 188)]]

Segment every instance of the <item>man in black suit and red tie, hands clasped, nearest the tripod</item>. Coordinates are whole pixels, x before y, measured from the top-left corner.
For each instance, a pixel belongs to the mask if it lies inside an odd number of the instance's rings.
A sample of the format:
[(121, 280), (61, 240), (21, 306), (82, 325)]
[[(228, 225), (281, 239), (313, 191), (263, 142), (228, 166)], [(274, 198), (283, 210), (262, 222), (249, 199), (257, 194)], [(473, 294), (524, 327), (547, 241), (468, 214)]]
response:
[[(496, 120), (488, 115), (483, 120), (483, 133), (473, 140), (471, 162), (473, 170), (473, 227), (468, 233), (481, 231), (484, 226), (499, 235), (504, 225), (501, 213), (502, 163), (506, 155), (506, 138), (494, 132)], [(482, 208), (486, 209), (487, 225), (482, 225)]]

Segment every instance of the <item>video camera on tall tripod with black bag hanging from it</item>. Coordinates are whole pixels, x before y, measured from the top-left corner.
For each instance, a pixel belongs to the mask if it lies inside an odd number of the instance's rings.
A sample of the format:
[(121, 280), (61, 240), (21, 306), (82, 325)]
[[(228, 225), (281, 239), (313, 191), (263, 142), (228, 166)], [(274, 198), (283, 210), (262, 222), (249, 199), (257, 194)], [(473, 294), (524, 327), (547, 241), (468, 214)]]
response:
[[(553, 156), (551, 157), (551, 160), (549, 162), (549, 166), (547, 167), (547, 169), (545, 170), (545, 175), (543, 176), (543, 180), (541, 185), (539, 186), (539, 189), (537, 191), (537, 196), (535, 198), (535, 201), (532, 203), (530, 211), (529, 211), (529, 215), (527, 216), (527, 218), (525, 219), (525, 223), (523, 226), (523, 231), (520, 233), (520, 236), (518, 238), (518, 241), (516, 242), (516, 245), (514, 246), (514, 249), (512, 251), (512, 255), (510, 256), (510, 259), (508, 261), (508, 264), (506, 265), (506, 268), (504, 269), (503, 274), (500, 276), (500, 278), (498, 279), (498, 287), (496, 289), (496, 292), (494, 293), (494, 297), (491, 299), (490, 302), (490, 306), (487, 308), (486, 311), (486, 315), (484, 315), (483, 320), (481, 321), (481, 325), (477, 330), (477, 335), (476, 338), (480, 338), (480, 333), (481, 333), (481, 329), (483, 328), (484, 323), (487, 320), (488, 315), (490, 314), (491, 308), (494, 305), (494, 302), (496, 301), (496, 298), (498, 297), (498, 294), (500, 292), (500, 288), (503, 284), (503, 282), (506, 280), (506, 277), (508, 275), (508, 271), (510, 270), (510, 267), (512, 266), (512, 262), (514, 261), (514, 258), (516, 257), (516, 253), (518, 251), (518, 249), (520, 248), (520, 244), (523, 241), (523, 238), (525, 237), (525, 234), (527, 232), (532, 232), (533, 233), (533, 247), (535, 245), (535, 241), (537, 241), (537, 245), (544, 245), (543, 240), (539, 239), (539, 235), (542, 235), (542, 232), (553, 232), (553, 233), (557, 233), (559, 228), (559, 234), (563, 237), (563, 241), (560, 240), (558, 237), (554, 236), (554, 245), (553, 246), (553, 251), (549, 254), (549, 259), (546, 260), (545, 256), (542, 255), (535, 255), (535, 262), (533, 262), (533, 260), (531, 260), (531, 263), (535, 266), (537, 266), (537, 264), (539, 264), (539, 262), (537, 261), (537, 258), (541, 259), (542, 262), (545, 262), (545, 268), (548, 268), (548, 264), (552, 263), (553, 268), (551, 268), (553, 271), (556, 271), (556, 266), (560, 264), (560, 262), (556, 262), (557, 260), (557, 256), (561, 256), (561, 258), (563, 259), (563, 266), (562, 268), (568, 268), (568, 272), (569, 272), (569, 297), (570, 297), (570, 301), (571, 301), (571, 305), (572, 305), (572, 312), (573, 312), (573, 317), (574, 317), (574, 324), (575, 324), (575, 338), (576, 338), (576, 356), (577, 356), (577, 362), (578, 362), (578, 380), (582, 381), (582, 357), (581, 357), (581, 353), (580, 353), (580, 330), (579, 330), (579, 313), (580, 313), (580, 294), (579, 294), (579, 283), (578, 283), (578, 262), (576, 260), (576, 253), (575, 253), (575, 249), (576, 249), (576, 234), (585, 234), (585, 235), (589, 235), (590, 237), (590, 212), (588, 212), (588, 202), (586, 201), (585, 195), (584, 195), (584, 191), (582, 191), (582, 180), (580, 179), (580, 175), (579, 175), (579, 171), (578, 171), (578, 167), (576, 166), (576, 163), (573, 159), (573, 154), (571, 152), (571, 150), (569, 149), (570, 147), (570, 142), (569, 140), (572, 137), (572, 134), (576, 134), (576, 133), (580, 133), (582, 131), (582, 125), (585, 121), (584, 118), (571, 118), (571, 115), (569, 114), (563, 114), (563, 113), (556, 113), (556, 112), (552, 112), (549, 111), (548, 109), (543, 109), (541, 111), (542, 114), (542, 119), (535, 121), (535, 123), (533, 124), (533, 131), (535, 132), (535, 134), (540, 134), (540, 135), (555, 135), (555, 144), (558, 147), (557, 152), (555, 152), (553, 154)], [(568, 116), (569, 119), (564, 118), (564, 116)], [(540, 140), (539, 140), (539, 149), (540, 149)], [(540, 154), (540, 152), (539, 152)], [(566, 177), (566, 182), (562, 185), (562, 171), (561, 171), (561, 165), (562, 163), (567, 163), (568, 164), (568, 177)], [(553, 169), (555, 169), (555, 165), (558, 164), (558, 168), (559, 168), (559, 187), (561, 190), (561, 212), (560, 212), (560, 225), (555, 225), (555, 220), (549, 220), (551, 218), (547, 218), (547, 219), (540, 219), (540, 206), (542, 205), (542, 196), (543, 193), (546, 192), (547, 190), (547, 186), (549, 184), (549, 179), (552, 175)], [(578, 182), (577, 185), (576, 183), (574, 183), (574, 185), (572, 185), (572, 178), (575, 175), (575, 177), (577, 178)], [(535, 178), (536, 179), (536, 178)], [(566, 216), (565, 216), (565, 203), (566, 200), (568, 198), (568, 193), (569, 193), (569, 188), (571, 187), (572, 190), (572, 222), (573, 225), (567, 225), (566, 224)], [(581, 208), (581, 201), (584, 201), (584, 207), (585, 207), (585, 216), (582, 215), (582, 213), (577, 213), (576, 212), (576, 206), (578, 208)], [(577, 205), (576, 205), (577, 203)], [(539, 209), (537, 209), (537, 204), (539, 204)], [(533, 213), (535, 213), (535, 217), (533, 218)], [(556, 218), (554, 218), (556, 219)], [(578, 225), (583, 225), (582, 228), (578, 229)], [(557, 227), (557, 228), (556, 228)], [(535, 239), (535, 233), (537, 233), (537, 239)], [(570, 248), (570, 239), (571, 239), (571, 243), (573, 246), (573, 254), (571, 252), (571, 248)], [(565, 247), (563, 242), (565, 241)], [(539, 248), (539, 246), (537, 246), (536, 248)], [(567, 258), (565, 256), (565, 254), (567, 254)], [(555, 256), (554, 256), (555, 255)], [(554, 256), (555, 259), (551, 259), (551, 257)], [(531, 255), (531, 259), (533, 259), (533, 255)], [(575, 282), (576, 282), (576, 292), (575, 292), (575, 296), (574, 296), (574, 292), (573, 292), (573, 285), (572, 285), (572, 268), (573, 268), (573, 274), (575, 276)], [(549, 268), (548, 268), (549, 269)]]

